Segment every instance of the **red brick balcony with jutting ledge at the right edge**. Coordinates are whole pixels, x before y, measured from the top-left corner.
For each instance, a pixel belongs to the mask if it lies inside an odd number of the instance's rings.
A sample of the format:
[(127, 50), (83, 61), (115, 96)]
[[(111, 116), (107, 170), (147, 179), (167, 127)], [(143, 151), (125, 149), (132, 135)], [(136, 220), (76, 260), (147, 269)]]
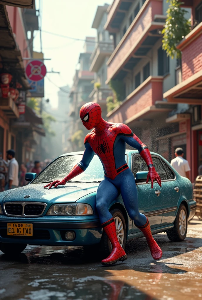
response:
[(202, 104), (202, 22), (177, 45), (182, 52), (182, 82), (164, 93), (172, 103)]

